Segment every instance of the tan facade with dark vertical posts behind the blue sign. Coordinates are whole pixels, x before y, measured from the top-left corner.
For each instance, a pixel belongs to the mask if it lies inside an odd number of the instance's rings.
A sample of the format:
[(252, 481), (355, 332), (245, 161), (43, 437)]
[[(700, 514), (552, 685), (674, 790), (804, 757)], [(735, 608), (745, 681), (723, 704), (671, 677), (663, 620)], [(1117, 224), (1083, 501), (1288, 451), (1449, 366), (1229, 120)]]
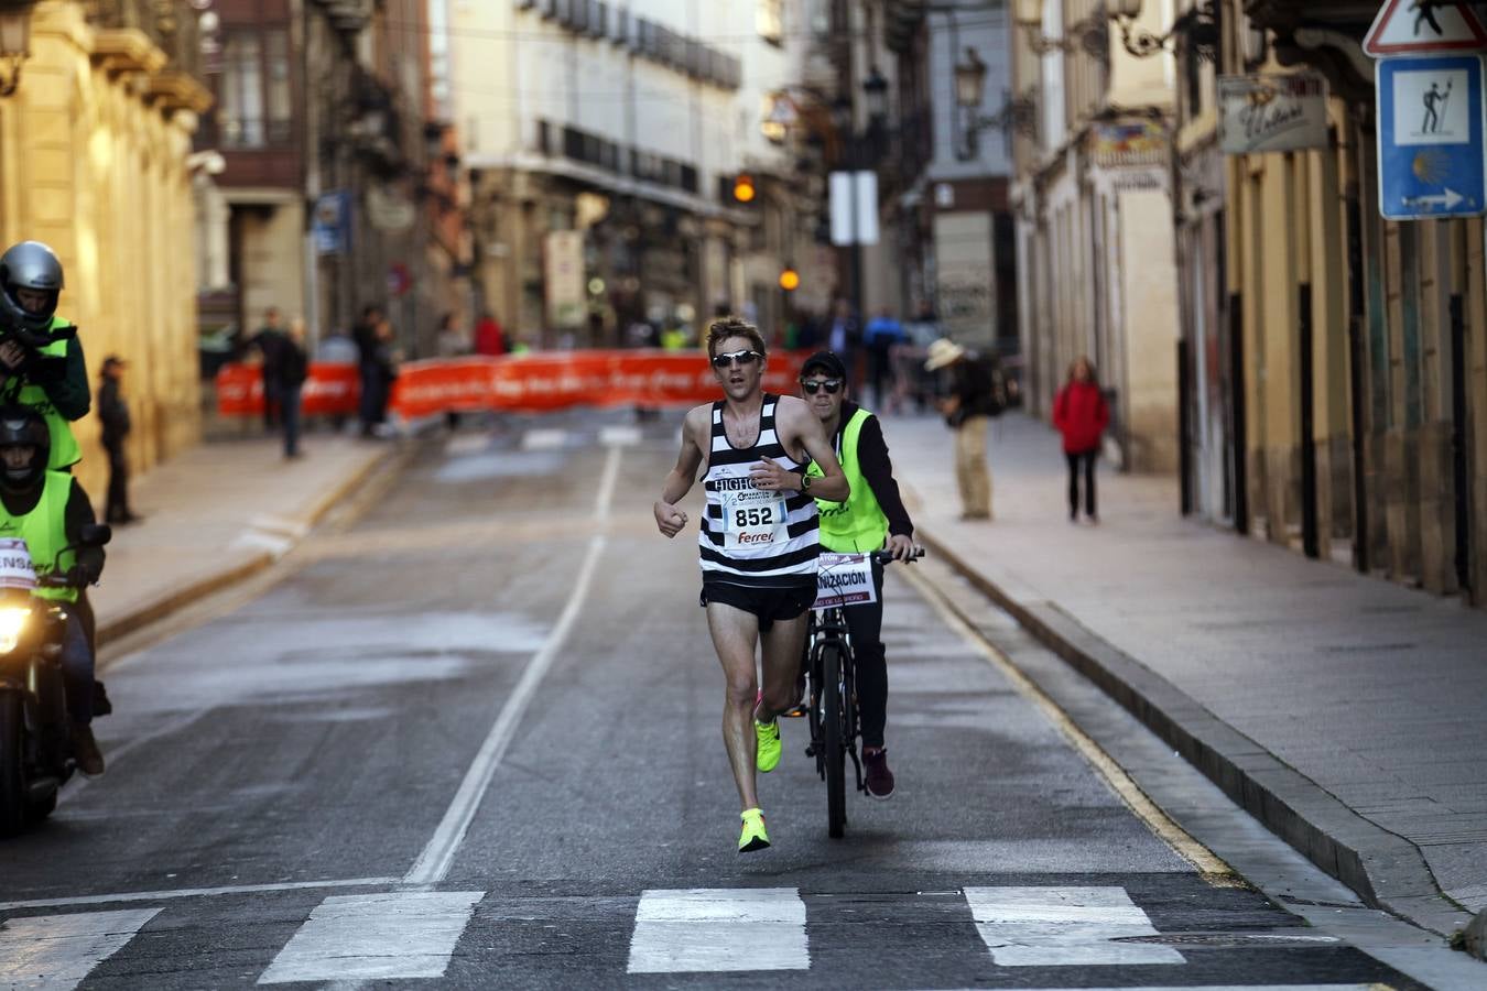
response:
[(1362, 52), (1377, 7), (1227, 0), (1190, 15), (1212, 31), (1216, 74), (1322, 88), (1325, 134), (1315, 147), (1215, 160), (1222, 103), (1215, 74), (1194, 80), (1179, 233), (1194, 266), (1185, 336), (1199, 386), (1188, 489), (1197, 511), (1240, 532), (1480, 605), (1484, 227), (1381, 218)]

